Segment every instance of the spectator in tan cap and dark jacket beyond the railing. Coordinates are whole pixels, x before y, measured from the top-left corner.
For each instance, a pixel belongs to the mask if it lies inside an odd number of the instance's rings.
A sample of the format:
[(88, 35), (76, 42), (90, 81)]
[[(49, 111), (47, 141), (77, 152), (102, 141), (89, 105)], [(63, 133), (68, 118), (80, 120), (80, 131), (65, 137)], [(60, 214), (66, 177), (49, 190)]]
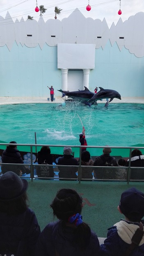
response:
[(110, 148), (103, 149), (103, 155), (100, 155), (95, 158), (94, 166), (111, 166), (112, 168), (100, 168), (94, 169), (94, 177), (98, 179), (114, 179), (115, 178), (115, 169), (114, 166), (117, 166), (116, 159), (110, 155)]

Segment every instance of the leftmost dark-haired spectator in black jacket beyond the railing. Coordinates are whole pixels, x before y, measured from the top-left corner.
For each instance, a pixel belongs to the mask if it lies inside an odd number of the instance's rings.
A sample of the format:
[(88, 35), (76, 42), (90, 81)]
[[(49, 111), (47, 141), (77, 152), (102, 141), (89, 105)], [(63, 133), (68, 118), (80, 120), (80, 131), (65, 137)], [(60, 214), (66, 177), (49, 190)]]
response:
[[(9, 142), (11, 144), (16, 144), (15, 141)], [(22, 164), (22, 165), (1, 165), (2, 174), (7, 171), (13, 171), (18, 176), (22, 174), (29, 174), (30, 170), (25, 168), (23, 165), (23, 160), (21, 158), (21, 154), (15, 145), (9, 145), (2, 153), (2, 163), (11, 163), (11, 164)]]

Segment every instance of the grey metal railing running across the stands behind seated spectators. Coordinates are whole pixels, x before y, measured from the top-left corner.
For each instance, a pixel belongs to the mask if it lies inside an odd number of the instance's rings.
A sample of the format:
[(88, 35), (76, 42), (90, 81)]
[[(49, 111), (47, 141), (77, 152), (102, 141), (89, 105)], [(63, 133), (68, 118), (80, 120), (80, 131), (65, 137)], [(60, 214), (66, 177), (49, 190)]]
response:
[[(79, 165), (78, 166), (75, 166), (75, 165), (49, 165), (49, 166), (52, 166), (52, 167), (77, 167), (78, 168), (78, 182), (80, 183), (81, 181), (94, 181), (93, 179), (81, 179), (81, 173), (82, 173), (82, 166), (81, 165), (81, 149), (85, 146), (74, 146), (74, 145), (51, 145), (51, 144), (9, 144), (9, 143), (0, 143), (0, 146), (8, 146), (8, 145), (14, 145), (14, 146), (30, 146), (30, 164), (25, 164), (26, 166), (29, 166), (30, 167), (30, 178), (31, 178), (31, 181), (33, 181), (34, 179), (34, 164), (32, 162), (32, 154), (33, 154), (33, 150), (32, 148), (34, 147), (36, 149), (36, 153), (37, 153), (37, 147), (38, 146), (49, 146), (49, 147), (71, 147), (71, 148), (79, 148), (80, 150), (80, 155), (79, 155)], [(144, 169), (144, 167), (130, 167), (130, 163), (131, 163), (131, 152), (132, 152), (132, 149), (135, 149), (135, 147), (133, 146), (87, 146), (87, 149), (89, 148), (96, 148), (96, 149), (103, 149), (103, 148), (111, 148), (111, 149), (129, 149), (129, 165), (128, 167), (124, 167), (125, 169), (128, 169), (128, 175), (127, 175), (127, 179), (125, 180), (118, 180), (118, 179), (95, 179), (95, 181), (127, 181), (127, 184), (129, 184), (130, 181), (144, 181), (143, 180), (139, 180), (139, 179), (136, 179), (136, 180), (130, 180), (130, 174), (131, 174), (131, 170), (132, 169)], [(137, 149), (139, 150), (143, 150), (144, 147), (136, 147)], [(0, 163), (1, 164), (1, 163)], [(2, 163), (2, 165), (21, 165), (21, 164), (13, 164), (13, 163)], [(37, 166), (41, 166), (41, 165), (37, 165)], [(104, 166), (85, 166), (85, 168), (91, 168), (91, 169), (95, 169), (95, 168), (114, 168), (114, 169), (120, 169), (122, 167), (104, 167)], [(92, 172), (92, 171), (91, 171)], [(22, 177), (23, 178), (23, 177)], [(51, 179), (51, 178), (42, 178), (41, 179)], [(57, 178), (53, 178), (53, 179), (57, 179)], [(75, 180), (75, 178), (58, 178), (59, 180)]]

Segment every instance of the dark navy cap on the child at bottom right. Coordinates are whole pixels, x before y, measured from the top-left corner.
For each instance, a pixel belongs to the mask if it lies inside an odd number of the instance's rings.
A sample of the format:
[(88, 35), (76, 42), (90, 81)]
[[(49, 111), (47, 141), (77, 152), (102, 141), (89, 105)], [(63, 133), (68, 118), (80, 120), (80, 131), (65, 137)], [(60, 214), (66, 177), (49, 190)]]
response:
[(121, 212), (128, 217), (133, 216), (131, 221), (141, 220), (144, 216), (144, 193), (132, 187), (121, 194), (119, 202)]

